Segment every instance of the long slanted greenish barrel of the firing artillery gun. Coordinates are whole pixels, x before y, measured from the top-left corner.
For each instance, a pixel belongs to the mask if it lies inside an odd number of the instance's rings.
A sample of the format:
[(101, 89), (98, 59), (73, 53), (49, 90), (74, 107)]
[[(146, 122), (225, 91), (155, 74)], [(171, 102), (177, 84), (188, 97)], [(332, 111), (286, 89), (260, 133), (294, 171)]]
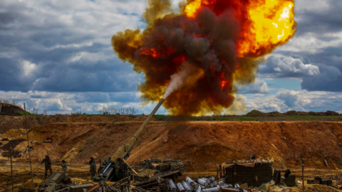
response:
[(128, 141), (127, 144), (125, 145), (121, 145), (118, 149), (118, 151), (115, 152), (114, 154), (114, 159), (121, 159), (121, 158), (125, 158), (125, 156), (127, 156), (128, 152), (133, 148), (133, 145), (135, 144), (135, 142), (137, 142), (138, 137), (140, 136), (141, 132), (145, 129), (146, 125), (148, 124), (148, 122), (150, 122), (150, 120), (152, 119), (153, 115), (155, 115), (155, 112), (157, 112), (157, 110), (160, 108), (160, 106), (162, 105), (162, 102), (164, 102), (164, 99), (160, 100), (160, 102), (157, 104), (157, 106), (155, 106), (155, 109), (152, 110), (152, 112), (150, 113), (150, 115), (148, 115), (147, 119), (145, 120), (145, 122), (140, 126), (140, 128), (138, 129), (137, 132), (135, 132), (133, 137), (130, 137), (130, 140)]

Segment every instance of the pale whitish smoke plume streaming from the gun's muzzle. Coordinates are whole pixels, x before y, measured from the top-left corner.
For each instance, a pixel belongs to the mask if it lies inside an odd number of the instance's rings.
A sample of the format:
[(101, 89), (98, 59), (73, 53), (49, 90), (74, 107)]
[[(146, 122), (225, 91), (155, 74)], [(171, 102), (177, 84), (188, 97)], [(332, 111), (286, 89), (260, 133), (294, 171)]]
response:
[(192, 73), (195, 73), (195, 71), (195, 67), (189, 61), (183, 61), (183, 63), (180, 64), (180, 71), (170, 76), (170, 84), (167, 86), (162, 98), (166, 99), (166, 97), (168, 97), (173, 91), (182, 87), (187, 78), (189, 78)]

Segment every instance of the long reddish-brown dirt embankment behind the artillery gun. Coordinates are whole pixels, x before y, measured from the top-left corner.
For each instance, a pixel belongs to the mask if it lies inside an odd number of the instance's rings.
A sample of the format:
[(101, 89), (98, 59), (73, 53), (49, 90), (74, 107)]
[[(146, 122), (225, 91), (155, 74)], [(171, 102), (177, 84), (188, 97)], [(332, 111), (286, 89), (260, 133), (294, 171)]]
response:
[[(142, 122), (53, 123), (34, 127), (30, 140), (52, 139), (52, 144), (33, 144), (31, 157), (41, 161), (66, 159), (71, 164), (86, 164), (90, 156), (106, 159), (125, 144)], [(11, 129), (0, 137), (13, 137)], [(274, 159), (277, 168), (301, 165), (324, 169), (342, 167), (342, 123), (338, 122), (150, 122), (128, 159), (177, 158), (188, 170), (215, 169), (231, 159)], [(25, 142), (16, 149), (25, 149)], [(27, 161), (28, 155), (20, 157)]]

